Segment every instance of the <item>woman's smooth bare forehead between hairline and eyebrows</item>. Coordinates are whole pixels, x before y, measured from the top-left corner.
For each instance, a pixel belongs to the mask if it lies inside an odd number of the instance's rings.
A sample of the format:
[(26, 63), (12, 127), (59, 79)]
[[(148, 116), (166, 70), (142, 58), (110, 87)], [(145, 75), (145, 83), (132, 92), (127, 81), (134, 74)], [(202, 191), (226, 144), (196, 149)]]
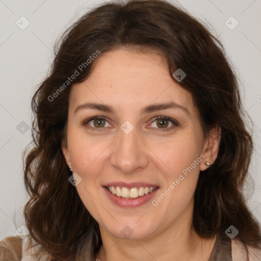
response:
[(174, 101), (195, 110), (191, 94), (172, 79), (166, 62), (153, 50), (121, 48), (101, 54), (88, 79), (74, 84), (70, 94), (71, 109), (90, 101), (122, 110)]

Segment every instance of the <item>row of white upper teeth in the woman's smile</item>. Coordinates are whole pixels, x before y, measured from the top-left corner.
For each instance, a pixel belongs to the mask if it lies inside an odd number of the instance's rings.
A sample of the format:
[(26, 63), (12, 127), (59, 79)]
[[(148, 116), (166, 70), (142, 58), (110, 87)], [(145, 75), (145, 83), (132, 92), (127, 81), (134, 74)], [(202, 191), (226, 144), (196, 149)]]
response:
[(137, 198), (138, 196), (143, 196), (144, 194), (151, 193), (153, 190), (155, 190), (157, 187), (140, 187), (139, 189), (137, 188), (124, 188), (122, 189), (120, 187), (107, 187), (110, 192), (118, 197), (123, 197), (123, 198)]

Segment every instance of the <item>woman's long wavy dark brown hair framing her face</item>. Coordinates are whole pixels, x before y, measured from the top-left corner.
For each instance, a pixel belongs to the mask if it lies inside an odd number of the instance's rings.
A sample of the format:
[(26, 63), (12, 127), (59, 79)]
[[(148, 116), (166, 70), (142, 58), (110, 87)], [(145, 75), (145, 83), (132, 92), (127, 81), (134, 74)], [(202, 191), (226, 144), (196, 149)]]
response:
[[(56, 43), (50, 71), (33, 96), (33, 146), (23, 154), (30, 195), (24, 217), (35, 245), (41, 246), (39, 253), (48, 253), (50, 260), (95, 260), (102, 244), (98, 223), (68, 182), (71, 173), (61, 146), (71, 86), (88, 78), (96, 60), (86, 61), (99, 51), (102, 56), (122, 47), (160, 52), (171, 76), (181, 68), (187, 76), (178, 84), (191, 93), (204, 135), (221, 128), (217, 159), (199, 173), (196, 232), (205, 238), (227, 237), (225, 230), (233, 225), (239, 230), (236, 239), (246, 249), (260, 248), (259, 226), (243, 195), (253, 142), (243, 121), (238, 79), (224, 47), (182, 8), (161, 0), (139, 0), (99, 5), (72, 24)], [(69, 81), (75, 71), (79, 75)]]

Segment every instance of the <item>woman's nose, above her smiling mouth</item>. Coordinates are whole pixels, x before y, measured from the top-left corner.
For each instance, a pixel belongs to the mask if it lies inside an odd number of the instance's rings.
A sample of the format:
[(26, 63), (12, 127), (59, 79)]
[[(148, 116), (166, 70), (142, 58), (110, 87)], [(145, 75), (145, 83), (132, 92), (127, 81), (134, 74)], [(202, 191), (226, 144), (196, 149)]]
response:
[(119, 129), (119, 137), (114, 144), (111, 164), (121, 173), (131, 174), (148, 165), (147, 147), (137, 136), (136, 128), (131, 133)]

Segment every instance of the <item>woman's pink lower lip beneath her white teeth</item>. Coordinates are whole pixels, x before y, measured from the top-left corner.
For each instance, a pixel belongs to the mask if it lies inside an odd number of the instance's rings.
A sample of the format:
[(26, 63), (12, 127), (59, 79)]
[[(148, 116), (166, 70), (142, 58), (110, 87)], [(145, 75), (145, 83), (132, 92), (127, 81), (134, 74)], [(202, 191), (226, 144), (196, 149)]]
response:
[(137, 207), (145, 204), (148, 202), (155, 194), (156, 191), (158, 191), (159, 188), (156, 188), (151, 193), (145, 194), (142, 197), (129, 199), (129, 198), (120, 198), (116, 195), (112, 194), (106, 187), (102, 187), (105, 190), (105, 193), (107, 196), (112, 200), (113, 203), (115, 203), (118, 206), (121, 207)]

